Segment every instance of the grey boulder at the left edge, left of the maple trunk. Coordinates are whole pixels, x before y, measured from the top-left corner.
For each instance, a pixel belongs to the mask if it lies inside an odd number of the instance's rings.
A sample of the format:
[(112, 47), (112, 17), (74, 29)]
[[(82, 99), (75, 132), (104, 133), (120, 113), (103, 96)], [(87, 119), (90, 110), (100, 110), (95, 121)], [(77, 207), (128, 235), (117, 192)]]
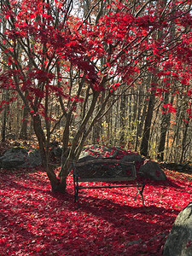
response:
[(0, 167), (5, 169), (34, 167), (42, 164), (38, 149), (10, 148), (0, 157)]

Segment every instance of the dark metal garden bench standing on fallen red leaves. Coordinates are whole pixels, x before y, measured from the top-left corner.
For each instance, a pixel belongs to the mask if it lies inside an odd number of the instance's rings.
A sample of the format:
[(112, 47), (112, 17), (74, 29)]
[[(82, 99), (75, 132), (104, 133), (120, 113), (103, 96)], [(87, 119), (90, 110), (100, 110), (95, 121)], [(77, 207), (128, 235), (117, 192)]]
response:
[[(89, 183), (97, 182), (103, 182), (104, 184), (89, 185)], [(86, 183), (86, 185), (81, 185), (81, 183)], [(143, 189), (145, 183), (142, 177), (137, 177), (135, 162), (111, 159), (73, 162), (73, 184), (74, 201), (78, 202), (78, 208), (80, 189), (111, 189), (119, 187), (136, 187), (137, 194), (135, 196), (135, 201), (137, 201), (137, 195), (141, 195), (144, 206)]]

